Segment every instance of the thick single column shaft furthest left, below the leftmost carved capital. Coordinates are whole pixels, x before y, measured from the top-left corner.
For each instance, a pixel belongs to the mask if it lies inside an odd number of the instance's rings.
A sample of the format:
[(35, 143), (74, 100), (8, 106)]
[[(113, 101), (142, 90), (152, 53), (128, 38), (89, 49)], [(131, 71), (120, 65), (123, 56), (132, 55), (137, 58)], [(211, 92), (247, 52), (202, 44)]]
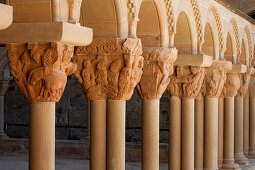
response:
[(55, 169), (55, 103), (30, 103), (29, 169)]

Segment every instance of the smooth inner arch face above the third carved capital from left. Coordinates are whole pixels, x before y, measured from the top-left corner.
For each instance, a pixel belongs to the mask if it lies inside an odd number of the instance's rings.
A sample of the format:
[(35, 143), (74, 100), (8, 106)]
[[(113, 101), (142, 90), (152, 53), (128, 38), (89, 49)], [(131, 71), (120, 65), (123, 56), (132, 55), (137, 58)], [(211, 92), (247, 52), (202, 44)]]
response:
[(168, 47), (168, 19), (162, 0), (143, 0), (139, 11), (137, 36), (145, 46)]

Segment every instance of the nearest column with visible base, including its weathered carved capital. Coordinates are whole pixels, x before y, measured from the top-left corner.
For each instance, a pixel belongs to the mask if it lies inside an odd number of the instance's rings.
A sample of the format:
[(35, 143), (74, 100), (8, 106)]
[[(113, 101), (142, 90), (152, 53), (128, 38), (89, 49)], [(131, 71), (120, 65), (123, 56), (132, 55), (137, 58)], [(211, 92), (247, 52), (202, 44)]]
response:
[(240, 169), (234, 163), (234, 97), (240, 88), (238, 73), (227, 73), (224, 96), (224, 151), (222, 169)]

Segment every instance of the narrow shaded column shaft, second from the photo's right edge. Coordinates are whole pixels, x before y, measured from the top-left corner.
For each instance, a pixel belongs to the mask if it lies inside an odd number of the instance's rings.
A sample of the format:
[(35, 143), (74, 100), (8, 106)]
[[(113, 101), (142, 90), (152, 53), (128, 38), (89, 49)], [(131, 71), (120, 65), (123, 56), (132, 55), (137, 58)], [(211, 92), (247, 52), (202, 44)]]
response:
[(246, 94), (244, 97), (244, 104), (243, 104), (243, 119), (244, 119), (244, 126), (243, 126), (243, 149), (244, 155), (248, 155), (249, 153), (249, 93)]

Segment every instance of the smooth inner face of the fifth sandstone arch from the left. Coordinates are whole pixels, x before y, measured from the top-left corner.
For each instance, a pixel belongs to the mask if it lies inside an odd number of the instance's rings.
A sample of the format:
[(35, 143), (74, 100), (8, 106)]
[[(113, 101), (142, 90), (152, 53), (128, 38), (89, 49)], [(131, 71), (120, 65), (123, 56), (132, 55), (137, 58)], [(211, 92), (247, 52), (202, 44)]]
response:
[(214, 59), (216, 58), (216, 51), (215, 51), (215, 38), (212, 26), (208, 22), (205, 25), (204, 29), (204, 42), (202, 46), (202, 53), (205, 55), (212, 56)]

